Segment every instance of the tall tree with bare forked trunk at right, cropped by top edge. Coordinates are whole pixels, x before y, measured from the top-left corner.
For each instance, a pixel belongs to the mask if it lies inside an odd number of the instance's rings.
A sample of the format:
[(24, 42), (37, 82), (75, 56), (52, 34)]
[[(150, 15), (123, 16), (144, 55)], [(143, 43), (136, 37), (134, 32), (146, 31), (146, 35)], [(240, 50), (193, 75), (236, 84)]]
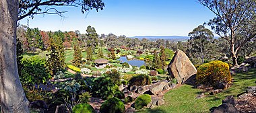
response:
[(256, 36), (256, 1), (199, 0), (199, 2), (216, 14), (208, 25), (221, 38), (227, 40), (233, 66), (237, 66), (239, 52)]

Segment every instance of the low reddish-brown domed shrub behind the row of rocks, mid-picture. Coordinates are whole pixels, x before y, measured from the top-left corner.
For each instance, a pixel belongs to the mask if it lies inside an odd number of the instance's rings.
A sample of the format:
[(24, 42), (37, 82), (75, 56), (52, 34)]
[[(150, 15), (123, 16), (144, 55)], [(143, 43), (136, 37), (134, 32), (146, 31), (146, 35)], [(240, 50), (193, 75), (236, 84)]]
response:
[(136, 75), (129, 80), (129, 86), (132, 86), (132, 85), (143, 86), (143, 85), (149, 85), (151, 83), (152, 83), (152, 80), (148, 75)]

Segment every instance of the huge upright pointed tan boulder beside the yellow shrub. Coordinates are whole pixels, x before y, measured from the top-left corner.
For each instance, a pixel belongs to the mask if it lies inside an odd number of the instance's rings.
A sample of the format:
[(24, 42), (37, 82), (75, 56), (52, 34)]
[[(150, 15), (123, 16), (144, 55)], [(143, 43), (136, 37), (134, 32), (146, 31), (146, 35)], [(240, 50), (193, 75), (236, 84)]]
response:
[(176, 50), (167, 70), (181, 84), (185, 83), (187, 79), (197, 73), (197, 69), (182, 50)]

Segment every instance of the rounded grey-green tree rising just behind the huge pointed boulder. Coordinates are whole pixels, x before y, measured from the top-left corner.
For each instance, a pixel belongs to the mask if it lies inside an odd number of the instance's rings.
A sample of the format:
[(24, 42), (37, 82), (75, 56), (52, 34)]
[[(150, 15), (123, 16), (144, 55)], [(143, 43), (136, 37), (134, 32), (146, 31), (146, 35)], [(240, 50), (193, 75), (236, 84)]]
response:
[(189, 54), (192, 54), (195, 58), (200, 57), (202, 63), (205, 57), (214, 56), (214, 54), (210, 54), (213, 50), (211, 44), (214, 34), (209, 29), (199, 25), (192, 32), (189, 32), (189, 36), (188, 42), (189, 46), (191, 46), (191, 48), (188, 48)]

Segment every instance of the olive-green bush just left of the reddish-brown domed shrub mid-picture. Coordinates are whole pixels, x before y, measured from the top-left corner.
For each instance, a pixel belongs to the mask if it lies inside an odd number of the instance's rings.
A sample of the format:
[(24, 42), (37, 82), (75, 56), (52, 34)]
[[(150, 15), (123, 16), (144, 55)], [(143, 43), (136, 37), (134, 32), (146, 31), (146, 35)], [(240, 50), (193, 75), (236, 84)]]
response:
[(109, 77), (113, 83), (120, 85), (121, 75), (119, 71), (117, 71), (116, 69), (112, 69), (111, 71), (106, 71), (104, 75), (105, 77)]

